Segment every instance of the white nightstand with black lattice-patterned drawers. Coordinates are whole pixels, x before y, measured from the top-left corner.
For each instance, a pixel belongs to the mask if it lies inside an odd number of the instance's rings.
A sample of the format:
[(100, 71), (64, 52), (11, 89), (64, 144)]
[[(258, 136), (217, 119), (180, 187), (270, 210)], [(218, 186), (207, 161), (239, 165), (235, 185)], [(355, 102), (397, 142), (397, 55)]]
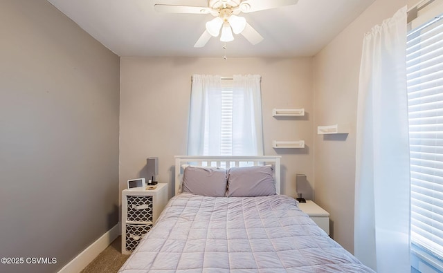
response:
[(122, 191), (122, 254), (131, 254), (168, 203), (168, 184)]

